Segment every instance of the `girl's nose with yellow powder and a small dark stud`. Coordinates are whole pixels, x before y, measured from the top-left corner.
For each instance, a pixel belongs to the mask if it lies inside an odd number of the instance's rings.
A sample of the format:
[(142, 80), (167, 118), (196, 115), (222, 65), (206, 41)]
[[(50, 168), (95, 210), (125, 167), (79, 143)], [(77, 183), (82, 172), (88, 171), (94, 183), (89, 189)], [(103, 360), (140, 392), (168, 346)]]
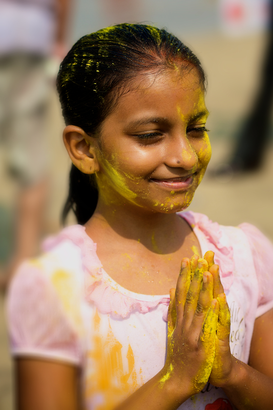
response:
[(172, 168), (183, 168), (187, 171), (194, 169), (198, 163), (198, 156), (194, 147), (185, 136), (175, 137), (169, 143), (166, 165)]

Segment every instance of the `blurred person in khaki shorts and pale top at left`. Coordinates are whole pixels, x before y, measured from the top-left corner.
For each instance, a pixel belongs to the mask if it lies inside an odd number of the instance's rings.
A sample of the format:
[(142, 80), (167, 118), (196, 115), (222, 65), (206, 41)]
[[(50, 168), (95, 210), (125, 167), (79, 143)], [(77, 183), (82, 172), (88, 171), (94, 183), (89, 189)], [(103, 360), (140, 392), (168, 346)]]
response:
[(1, 289), (38, 250), (49, 190), (49, 62), (66, 54), (69, 7), (70, 0), (0, 0), (0, 139), (6, 168), (19, 185), (14, 249), (2, 268)]

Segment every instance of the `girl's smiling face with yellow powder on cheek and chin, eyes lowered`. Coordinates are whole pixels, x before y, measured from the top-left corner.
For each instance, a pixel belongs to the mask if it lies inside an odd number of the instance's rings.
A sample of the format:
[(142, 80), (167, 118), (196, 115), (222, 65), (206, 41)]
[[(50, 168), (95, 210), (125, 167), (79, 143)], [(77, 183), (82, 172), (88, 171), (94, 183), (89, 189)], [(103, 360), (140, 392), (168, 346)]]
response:
[(204, 91), (196, 69), (182, 78), (171, 69), (142, 78), (102, 123), (100, 200), (178, 212), (191, 203), (211, 158)]

